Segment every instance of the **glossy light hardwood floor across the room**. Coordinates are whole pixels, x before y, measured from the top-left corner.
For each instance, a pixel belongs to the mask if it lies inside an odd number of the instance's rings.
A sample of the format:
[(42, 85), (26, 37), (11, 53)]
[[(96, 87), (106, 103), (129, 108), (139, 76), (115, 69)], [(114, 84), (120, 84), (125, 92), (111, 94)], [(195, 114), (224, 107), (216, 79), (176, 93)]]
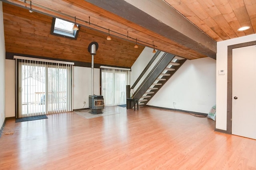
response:
[(1, 170), (255, 170), (256, 140), (214, 131), (215, 122), (140, 107), (85, 119), (75, 112), (5, 126)]

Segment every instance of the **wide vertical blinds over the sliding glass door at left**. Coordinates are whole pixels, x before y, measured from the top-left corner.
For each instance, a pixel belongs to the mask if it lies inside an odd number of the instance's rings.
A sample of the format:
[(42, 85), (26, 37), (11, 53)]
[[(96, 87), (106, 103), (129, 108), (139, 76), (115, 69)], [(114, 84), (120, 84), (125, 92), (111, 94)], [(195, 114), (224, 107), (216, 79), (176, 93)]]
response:
[(14, 56), (18, 117), (72, 111), (71, 71), (74, 63)]

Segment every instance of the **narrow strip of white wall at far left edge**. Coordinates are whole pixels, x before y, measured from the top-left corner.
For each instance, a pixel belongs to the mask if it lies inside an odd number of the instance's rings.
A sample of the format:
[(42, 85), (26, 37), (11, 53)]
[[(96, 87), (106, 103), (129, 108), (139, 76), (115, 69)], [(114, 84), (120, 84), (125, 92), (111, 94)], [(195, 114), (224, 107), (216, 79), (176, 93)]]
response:
[(5, 42), (4, 42), (4, 18), (3, 6), (0, 2), (0, 128), (5, 119)]

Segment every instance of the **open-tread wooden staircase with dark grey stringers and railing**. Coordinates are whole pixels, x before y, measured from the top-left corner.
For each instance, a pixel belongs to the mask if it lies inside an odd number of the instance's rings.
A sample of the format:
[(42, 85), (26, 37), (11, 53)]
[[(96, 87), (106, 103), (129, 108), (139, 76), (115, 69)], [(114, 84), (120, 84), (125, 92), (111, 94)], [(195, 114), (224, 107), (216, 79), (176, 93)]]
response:
[(134, 92), (133, 98), (139, 99), (139, 106), (146, 105), (185, 61), (186, 59), (182, 57), (164, 53), (156, 63), (156, 66), (152, 68), (148, 76)]

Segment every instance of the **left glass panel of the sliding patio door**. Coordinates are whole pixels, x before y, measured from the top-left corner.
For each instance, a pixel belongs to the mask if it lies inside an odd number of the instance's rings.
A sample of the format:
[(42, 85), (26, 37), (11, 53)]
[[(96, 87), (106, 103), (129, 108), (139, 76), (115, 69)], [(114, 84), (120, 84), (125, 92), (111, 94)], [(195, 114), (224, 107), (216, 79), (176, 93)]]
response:
[(20, 63), (19, 117), (45, 114), (45, 67), (35, 63)]

